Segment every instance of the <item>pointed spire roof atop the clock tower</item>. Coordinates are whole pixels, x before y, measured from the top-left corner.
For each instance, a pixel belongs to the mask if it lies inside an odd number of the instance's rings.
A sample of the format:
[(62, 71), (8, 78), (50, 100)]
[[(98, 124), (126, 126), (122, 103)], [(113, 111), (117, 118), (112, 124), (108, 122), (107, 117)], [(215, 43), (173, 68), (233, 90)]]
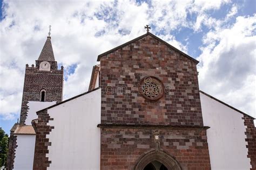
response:
[(47, 37), (43, 49), (38, 57), (39, 61), (55, 61), (51, 45), (51, 37)]

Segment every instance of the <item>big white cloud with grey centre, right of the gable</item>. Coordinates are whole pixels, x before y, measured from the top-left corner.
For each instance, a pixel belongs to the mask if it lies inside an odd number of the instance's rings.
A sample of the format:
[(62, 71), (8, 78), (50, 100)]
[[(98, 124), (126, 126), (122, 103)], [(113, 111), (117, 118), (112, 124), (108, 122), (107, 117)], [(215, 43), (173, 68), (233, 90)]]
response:
[(200, 88), (256, 117), (256, 15), (217, 30), (203, 40)]

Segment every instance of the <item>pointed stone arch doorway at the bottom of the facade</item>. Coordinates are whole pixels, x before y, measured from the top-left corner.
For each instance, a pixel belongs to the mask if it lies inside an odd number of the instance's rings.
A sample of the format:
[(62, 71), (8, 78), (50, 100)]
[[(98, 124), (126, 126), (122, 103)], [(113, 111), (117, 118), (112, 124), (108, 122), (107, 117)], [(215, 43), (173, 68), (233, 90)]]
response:
[(134, 170), (181, 170), (178, 161), (164, 151), (150, 151), (143, 154)]

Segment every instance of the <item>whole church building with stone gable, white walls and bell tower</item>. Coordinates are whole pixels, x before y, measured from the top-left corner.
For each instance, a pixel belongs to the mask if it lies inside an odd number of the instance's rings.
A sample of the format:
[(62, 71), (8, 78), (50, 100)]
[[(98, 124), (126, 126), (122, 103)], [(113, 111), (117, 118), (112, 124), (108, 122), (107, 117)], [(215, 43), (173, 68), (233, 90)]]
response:
[(197, 60), (147, 32), (97, 61), (89, 90), (62, 101), (48, 37), (7, 169), (256, 169), (254, 118), (199, 90)]

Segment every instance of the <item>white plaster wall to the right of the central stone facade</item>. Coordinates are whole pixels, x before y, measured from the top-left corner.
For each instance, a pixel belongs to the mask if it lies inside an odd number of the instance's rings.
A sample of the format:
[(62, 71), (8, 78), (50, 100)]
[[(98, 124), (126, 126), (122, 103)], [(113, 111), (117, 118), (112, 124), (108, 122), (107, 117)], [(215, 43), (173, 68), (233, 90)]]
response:
[(243, 115), (200, 93), (212, 170), (250, 169)]

